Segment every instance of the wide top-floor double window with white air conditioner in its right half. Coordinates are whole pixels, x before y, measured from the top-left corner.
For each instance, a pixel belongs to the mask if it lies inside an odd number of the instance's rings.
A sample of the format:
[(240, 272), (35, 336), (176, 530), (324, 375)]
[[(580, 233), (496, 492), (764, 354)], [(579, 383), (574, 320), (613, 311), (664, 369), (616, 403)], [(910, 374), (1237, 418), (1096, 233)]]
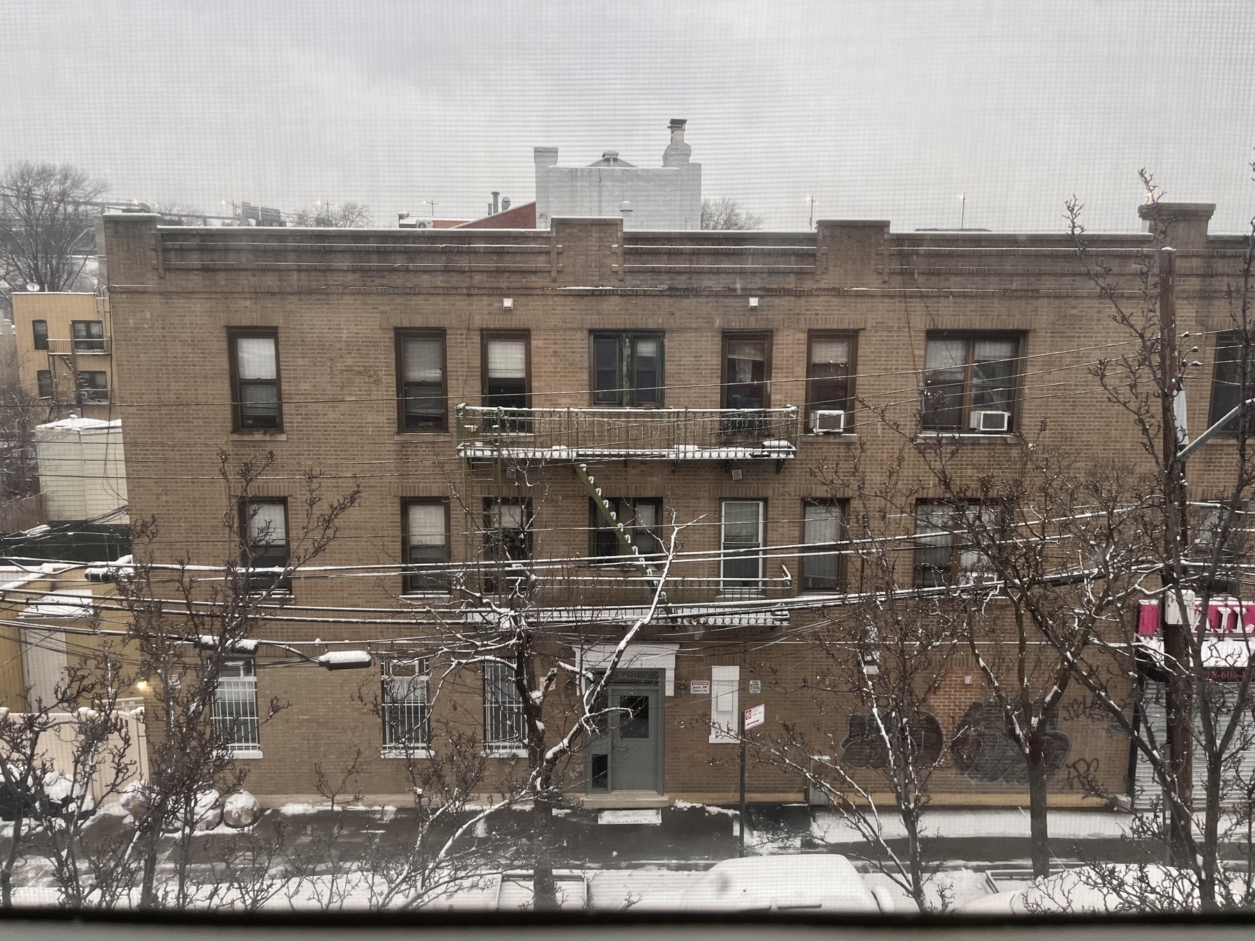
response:
[(1001, 412), (1008, 415), (1005, 428), (995, 419), (985, 430), (1013, 430), (1018, 358), (1017, 338), (929, 336), (920, 404), (924, 428), (981, 430), (978, 413)]

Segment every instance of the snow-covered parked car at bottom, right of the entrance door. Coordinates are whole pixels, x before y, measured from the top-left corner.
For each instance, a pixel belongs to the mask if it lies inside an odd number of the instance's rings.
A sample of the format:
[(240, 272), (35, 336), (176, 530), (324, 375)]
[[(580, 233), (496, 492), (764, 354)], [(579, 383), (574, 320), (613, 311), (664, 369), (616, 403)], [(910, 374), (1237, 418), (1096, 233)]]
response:
[[(884, 902), (884, 903), (881, 903)], [(685, 911), (892, 911), (843, 856), (827, 853), (724, 859), (684, 892)]]

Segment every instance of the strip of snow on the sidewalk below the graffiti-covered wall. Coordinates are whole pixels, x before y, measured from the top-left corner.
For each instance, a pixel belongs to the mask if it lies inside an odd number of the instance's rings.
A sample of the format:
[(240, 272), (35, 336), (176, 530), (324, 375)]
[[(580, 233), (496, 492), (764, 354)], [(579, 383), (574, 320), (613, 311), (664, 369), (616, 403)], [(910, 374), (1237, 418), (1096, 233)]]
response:
[[(1052, 841), (1118, 839), (1128, 834), (1131, 818), (1104, 811), (1050, 811)], [(887, 839), (905, 836), (901, 819), (881, 814)], [(927, 811), (922, 821), (930, 837), (1019, 837), (1029, 838), (1028, 809), (1022, 811)], [(811, 836), (825, 843), (861, 843), (863, 838), (835, 811), (818, 811), (811, 821)]]

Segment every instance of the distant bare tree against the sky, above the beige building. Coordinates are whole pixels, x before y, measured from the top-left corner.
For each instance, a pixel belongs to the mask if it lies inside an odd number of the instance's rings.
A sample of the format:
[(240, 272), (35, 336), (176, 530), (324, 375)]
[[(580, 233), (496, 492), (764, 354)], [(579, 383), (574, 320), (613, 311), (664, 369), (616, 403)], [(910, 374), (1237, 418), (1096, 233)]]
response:
[(0, 176), (0, 291), (77, 286), (87, 265), (75, 253), (95, 228), (89, 206), (105, 184), (69, 164), (11, 163)]

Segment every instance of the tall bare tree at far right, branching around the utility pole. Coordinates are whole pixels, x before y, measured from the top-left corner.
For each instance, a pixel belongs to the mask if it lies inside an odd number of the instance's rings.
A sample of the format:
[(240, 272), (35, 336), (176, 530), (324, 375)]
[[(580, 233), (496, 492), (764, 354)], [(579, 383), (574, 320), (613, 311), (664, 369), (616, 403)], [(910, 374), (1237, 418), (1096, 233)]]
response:
[[(1245, 534), (1255, 486), (1250, 449), (1255, 427), (1255, 330), (1250, 322), (1255, 220), (1242, 248), (1225, 253), (1230, 263), (1227, 332), (1235, 338), (1227, 355), (1235, 368), (1231, 384), (1236, 403), (1229, 427), (1234, 447), (1225, 463), (1227, 478), (1202, 499), (1191, 501), (1186, 478), (1190, 448), (1178, 403), (1187, 376), (1201, 364), (1194, 359), (1197, 341), (1176, 325), (1175, 258), (1165, 245), (1167, 227), (1157, 212), (1158, 189), (1145, 171), (1142, 182), (1152, 203), (1147, 215), (1155, 241), (1132, 271), (1116, 270), (1114, 262), (1088, 245), (1077, 199), (1069, 201), (1067, 210), (1084, 271), (1109, 305), (1112, 322), (1130, 340), (1126, 351), (1097, 364), (1093, 378), (1136, 429), (1150, 459), (1150, 474), (1133, 486), (1123, 512), (1146, 533), (1137, 568), (1158, 582), (1147, 590), (1157, 602), (1157, 637), (1147, 642), (1140, 636), (1136, 616), (1104, 619), (1107, 631), (1092, 639), (1096, 655), (1077, 657), (1072, 674), (1132, 739), (1152, 770), (1172, 862), (1188, 873), (1197, 903), (1211, 911), (1235, 902), (1225, 844), (1234, 826), (1242, 826), (1242, 814), (1232, 816), (1230, 803), (1236, 798), (1241, 805), (1251, 793), (1250, 783), (1244, 787), (1235, 773), (1240, 749), (1250, 739), (1255, 644), (1242, 629), (1217, 645), (1217, 626), (1221, 631), (1224, 626), (1216, 622), (1214, 602), (1240, 597), (1247, 571)], [(1171, 212), (1171, 207), (1165, 210)], [(1244, 624), (1242, 615), (1239, 624)], [(1043, 634), (1055, 647), (1067, 647), (1054, 626), (1043, 625)], [(1156, 688), (1162, 688), (1162, 705), (1155, 700)], [(1147, 721), (1158, 709), (1165, 713), (1166, 731)], [(1195, 780), (1201, 785), (1201, 805)]]

